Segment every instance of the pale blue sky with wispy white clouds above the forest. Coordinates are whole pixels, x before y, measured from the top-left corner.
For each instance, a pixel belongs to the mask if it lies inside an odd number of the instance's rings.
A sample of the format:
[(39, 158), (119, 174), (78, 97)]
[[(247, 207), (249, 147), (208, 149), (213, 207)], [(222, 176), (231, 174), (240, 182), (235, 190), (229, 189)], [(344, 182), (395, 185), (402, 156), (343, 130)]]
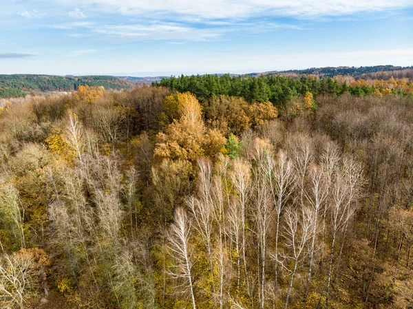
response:
[(0, 0), (0, 74), (413, 65), (413, 0)]

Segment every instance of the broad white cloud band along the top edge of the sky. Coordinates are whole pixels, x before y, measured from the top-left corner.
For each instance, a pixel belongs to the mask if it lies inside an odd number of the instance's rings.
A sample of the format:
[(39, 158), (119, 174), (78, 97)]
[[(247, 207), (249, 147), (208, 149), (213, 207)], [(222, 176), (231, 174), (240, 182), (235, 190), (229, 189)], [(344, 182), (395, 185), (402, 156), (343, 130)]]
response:
[(178, 14), (200, 19), (239, 19), (260, 16), (315, 18), (412, 7), (412, 0), (58, 0), (65, 4), (94, 5), (121, 14)]

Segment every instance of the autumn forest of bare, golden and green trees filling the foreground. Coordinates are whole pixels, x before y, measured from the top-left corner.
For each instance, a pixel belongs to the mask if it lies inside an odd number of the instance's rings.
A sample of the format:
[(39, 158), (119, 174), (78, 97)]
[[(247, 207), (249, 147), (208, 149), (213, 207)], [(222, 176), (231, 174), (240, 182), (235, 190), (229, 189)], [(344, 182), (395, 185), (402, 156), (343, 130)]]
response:
[(1, 308), (412, 308), (396, 82), (182, 76), (6, 104)]

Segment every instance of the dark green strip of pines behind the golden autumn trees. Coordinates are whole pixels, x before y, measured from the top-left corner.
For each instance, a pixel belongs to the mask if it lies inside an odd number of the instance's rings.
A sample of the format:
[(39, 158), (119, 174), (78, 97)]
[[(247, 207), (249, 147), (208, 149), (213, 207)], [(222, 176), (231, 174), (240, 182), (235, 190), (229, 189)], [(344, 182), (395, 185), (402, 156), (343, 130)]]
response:
[[(301, 76), (230, 76), (193, 75), (164, 78), (153, 85), (169, 87), (178, 92), (191, 92), (200, 102), (205, 102), (213, 96), (226, 95), (245, 98), (248, 102), (270, 101), (273, 105), (284, 105), (292, 98), (305, 95), (307, 92), (319, 94), (341, 94), (348, 92), (352, 95), (364, 96), (381, 90), (368, 83), (348, 85), (346, 81), (339, 83), (335, 78), (314, 78)], [(403, 90), (391, 89), (393, 93), (403, 93)]]

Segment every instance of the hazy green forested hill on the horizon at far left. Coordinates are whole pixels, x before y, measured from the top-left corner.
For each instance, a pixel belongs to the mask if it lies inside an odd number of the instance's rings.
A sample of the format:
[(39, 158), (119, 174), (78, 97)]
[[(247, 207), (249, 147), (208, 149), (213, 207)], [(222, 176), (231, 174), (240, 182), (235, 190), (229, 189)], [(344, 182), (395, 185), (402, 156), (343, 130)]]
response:
[(73, 91), (79, 85), (106, 89), (131, 89), (136, 82), (116, 76), (0, 75), (0, 98), (16, 98), (30, 92)]

